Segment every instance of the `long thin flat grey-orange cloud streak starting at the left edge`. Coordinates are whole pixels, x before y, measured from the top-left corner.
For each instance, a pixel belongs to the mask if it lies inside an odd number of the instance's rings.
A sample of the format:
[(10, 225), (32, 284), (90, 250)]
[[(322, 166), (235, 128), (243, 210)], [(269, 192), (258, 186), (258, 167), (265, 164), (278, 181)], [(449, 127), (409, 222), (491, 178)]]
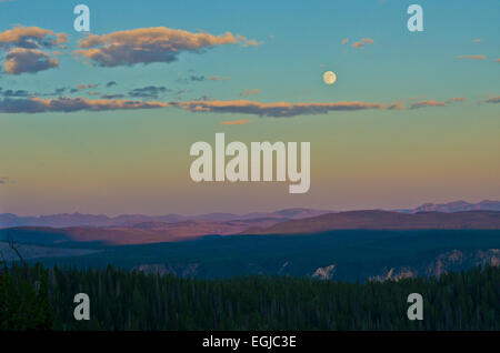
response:
[(74, 112), (104, 110), (136, 110), (169, 107), (166, 102), (142, 102), (132, 100), (58, 98), (41, 99), (3, 99), (0, 100), (0, 113), (42, 113), (42, 112)]

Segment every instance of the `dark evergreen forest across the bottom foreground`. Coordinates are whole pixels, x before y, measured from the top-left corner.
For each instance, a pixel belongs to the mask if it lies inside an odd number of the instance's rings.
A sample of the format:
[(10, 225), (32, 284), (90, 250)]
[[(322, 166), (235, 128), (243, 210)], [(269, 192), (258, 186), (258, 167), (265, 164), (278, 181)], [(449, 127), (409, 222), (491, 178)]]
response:
[[(2, 330), (500, 330), (500, 268), (343, 283), (294, 278), (181, 279), (107, 269), (13, 265), (0, 274)], [(90, 296), (90, 321), (73, 296)], [(423, 295), (423, 321), (407, 296)]]

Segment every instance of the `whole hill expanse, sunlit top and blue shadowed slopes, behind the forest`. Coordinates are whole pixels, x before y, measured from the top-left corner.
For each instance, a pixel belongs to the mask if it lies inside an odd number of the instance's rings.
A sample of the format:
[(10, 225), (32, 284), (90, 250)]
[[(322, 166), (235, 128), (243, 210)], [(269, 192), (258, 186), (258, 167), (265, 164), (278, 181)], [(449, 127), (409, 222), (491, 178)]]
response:
[[(0, 259), (19, 260), (4, 242), (9, 240), (33, 263), (113, 264), (197, 278), (266, 274), (383, 281), (500, 265), (500, 211), (323, 212), (217, 213), (173, 222), (96, 216), (108, 225), (4, 228)], [(56, 224), (68, 219), (59, 216)], [(127, 225), (109, 225), (118, 220)]]

